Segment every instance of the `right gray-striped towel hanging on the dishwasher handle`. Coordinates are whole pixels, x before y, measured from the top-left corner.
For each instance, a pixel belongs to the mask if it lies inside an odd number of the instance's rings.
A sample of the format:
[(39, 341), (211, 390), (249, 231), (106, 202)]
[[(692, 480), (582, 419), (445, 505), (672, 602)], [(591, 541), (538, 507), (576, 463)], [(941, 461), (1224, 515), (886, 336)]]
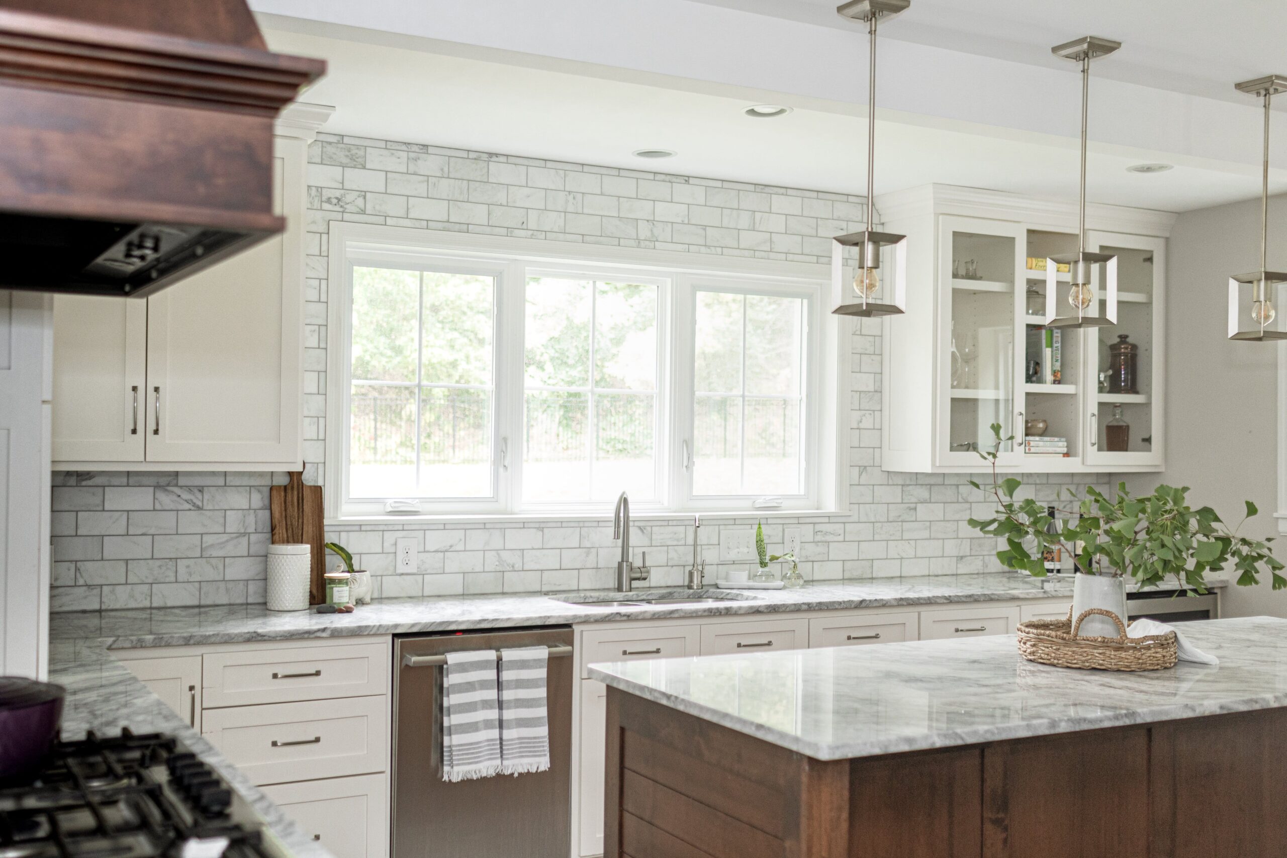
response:
[(501, 772), (524, 774), (550, 768), (546, 714), (548, 647), (501, 650)]

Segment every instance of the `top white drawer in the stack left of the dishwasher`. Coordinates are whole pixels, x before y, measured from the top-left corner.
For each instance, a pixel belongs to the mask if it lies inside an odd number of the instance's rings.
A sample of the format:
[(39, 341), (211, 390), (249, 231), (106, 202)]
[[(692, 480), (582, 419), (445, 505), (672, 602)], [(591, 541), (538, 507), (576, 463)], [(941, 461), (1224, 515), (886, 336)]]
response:
[(214, 652), (201, 673), (207, 709), (382, 695), (391, 675), (386, 643)]

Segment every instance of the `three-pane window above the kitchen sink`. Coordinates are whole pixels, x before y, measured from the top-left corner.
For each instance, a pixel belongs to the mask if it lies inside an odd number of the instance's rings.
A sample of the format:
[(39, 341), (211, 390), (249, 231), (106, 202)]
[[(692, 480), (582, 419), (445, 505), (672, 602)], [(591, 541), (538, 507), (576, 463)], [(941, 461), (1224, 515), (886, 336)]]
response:
[(817, 506), (817, 283), (360, 259), (341, 515)]

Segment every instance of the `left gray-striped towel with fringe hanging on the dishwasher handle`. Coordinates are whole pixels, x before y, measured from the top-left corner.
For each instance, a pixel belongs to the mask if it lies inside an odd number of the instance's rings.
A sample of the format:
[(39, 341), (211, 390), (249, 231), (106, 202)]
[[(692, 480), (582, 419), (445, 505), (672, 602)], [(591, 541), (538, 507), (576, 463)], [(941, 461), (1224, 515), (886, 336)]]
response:
[(443, 780), (501, 772), (495, 650), (448, 652), (443, 677)]

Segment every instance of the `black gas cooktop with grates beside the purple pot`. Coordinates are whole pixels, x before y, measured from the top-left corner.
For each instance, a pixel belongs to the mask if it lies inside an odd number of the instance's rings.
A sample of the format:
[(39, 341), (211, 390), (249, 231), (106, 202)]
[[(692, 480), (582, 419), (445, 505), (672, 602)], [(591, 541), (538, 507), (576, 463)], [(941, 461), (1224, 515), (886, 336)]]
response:
[(0, 858), (287, 858), (251, 807), (178, 740), (58, 742), (0, 785)]

